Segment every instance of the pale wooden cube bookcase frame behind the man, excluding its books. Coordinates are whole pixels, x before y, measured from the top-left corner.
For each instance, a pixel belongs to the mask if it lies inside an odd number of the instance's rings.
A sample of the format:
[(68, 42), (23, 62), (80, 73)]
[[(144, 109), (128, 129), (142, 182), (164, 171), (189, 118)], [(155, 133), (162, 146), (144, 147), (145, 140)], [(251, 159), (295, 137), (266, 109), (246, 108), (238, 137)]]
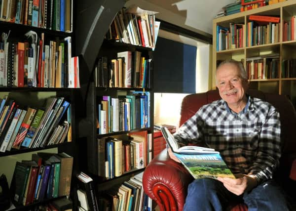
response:
[[(279, 42), (259, 44), (255, 46), (247, 46), (247, 25), (250, 15), (265, 15), (280, 17), (279, 23)], [(256, 57), (262, 54), (279, 54), (279, 73), (277, 78), (273, 79), (252, 79), (249, 80), (250, 88), (259, 89), (265, 92), (278, 94), (287, 94), (291, 97), (292, 102), (296, 105), (296, 78), (284, 78), (282, 76), (282, 62), (287, 59), (295, 59), (296, 40), (283, 41), (283, 25), (284, 22), (291, 20), (296, 15), (296, 0), (287, 0), (276, 4), (271, 4), (256, 9), (220, 17), (213, 20), (213, 72), (212, 72), (212, 88), (216, 88), (216, 69), (217, 61), (225, 59), (234, 59), (242, 61), (244, 66), (247, 65), (247, 58)], [(244, 24), (244, 45), (240, 48), (232, 48), (217, 51), (217, 26), (229, 28), (230, 23)]]

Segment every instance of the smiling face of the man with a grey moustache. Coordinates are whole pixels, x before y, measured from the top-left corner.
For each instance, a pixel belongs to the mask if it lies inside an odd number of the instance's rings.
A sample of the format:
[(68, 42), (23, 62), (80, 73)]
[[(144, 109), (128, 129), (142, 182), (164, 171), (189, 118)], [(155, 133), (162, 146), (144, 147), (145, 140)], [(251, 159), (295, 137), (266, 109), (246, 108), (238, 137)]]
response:
[(246, 100), (247, 80), (241, 78), (239, 69), (231, 63), (223, 64), (216, 73), (219, 94), (228, 106), (239, 104)]

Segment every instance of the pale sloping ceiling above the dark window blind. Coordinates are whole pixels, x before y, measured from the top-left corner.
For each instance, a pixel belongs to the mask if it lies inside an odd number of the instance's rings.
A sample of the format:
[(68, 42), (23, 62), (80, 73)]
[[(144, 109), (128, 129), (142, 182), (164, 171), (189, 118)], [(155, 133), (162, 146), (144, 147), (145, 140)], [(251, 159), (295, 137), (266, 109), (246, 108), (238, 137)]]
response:
[(204, 35), (212, 35), (213, 19), (235, 0), (128, 0), (142, 9), (159, 12), (156, 18)]

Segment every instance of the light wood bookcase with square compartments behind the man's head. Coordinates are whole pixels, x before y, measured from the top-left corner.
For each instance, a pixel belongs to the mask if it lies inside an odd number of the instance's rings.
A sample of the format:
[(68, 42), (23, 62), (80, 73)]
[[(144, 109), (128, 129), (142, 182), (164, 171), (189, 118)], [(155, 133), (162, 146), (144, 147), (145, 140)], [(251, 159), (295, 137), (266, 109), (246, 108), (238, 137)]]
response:
[[(271, 5), (259, 7), (256, 9), (214, 19), (213, 20), (213, 37), (216, 39), (213, 39), (212, 88), (213, 89), (216, 88), (215, 76), (216, 76), (217, 63), (219, 63), (219, 61), (222, 61), (225, 59), (234, 59), (237, 61), (242, 61), (245, 68), (248, 70), (250, 69), (250, 66), (248, 66), (250, 65), (249, 64), (250, 58), (261, 57), (260, 59), (263, 59), (264, 56), (273, 54), (273, 55), (276, 55), (277, 57), (273, 59), (273, 61), (277, 62), (275, 65), (276, 74), (270, 75), (267, 77), (250, 77), (249, 76), (250, 88), (259, 89), (265, 92), (289, 95), (292, 99), (293, 104), (296, 105), (296, 92), (295, 92), (296, 77), (292, 73), (290, 73), (290, 75), (285, 73), (288, 71), (288, 68), (286, 68), (287, 66), (284, 66), (284, 63), (287, 62), (287, 60), (292, 60), (292, 63), (293, 63), (293, 59), (296, 58), (295, 51), (294, 51), (294, 47), (296, 46), (295, 37), (291, 36), (288, 39), (288, 36), (285, 37), (286, 31), (284, 32), (285, 24), (286, 25), (290, 24), (289, 22), (292, 21), (292, 17), (296, 15), (295, 8), (296, 8), (296, 0), (287, 0), (287, 1), (276, 3), (276, 4), (271, 4)], [(258, 42), (257, 44), (255, 44), (254, 38), (253, 38), (253, 44), (249, 43), (251, 33), (248, 34), (250, 31), (248, 27), (252, 22), (251, 20), (249, 20), (250, 15), (261, 15), (261, 16), (263, 15), (263, 16), (273, 16), (273, 17), (280, 18), (278, 26), (276, 26), (276, 23), (274, 26), (275, 28), (277, 28), (276, 29), (277, 31), (274, 31), (274, 34), (276, 36), (274, 37), (275, 39), (274, 41), (268, 41), (266, 40), (268, 38), (261, 37), (261, 42), (257, 40)], [(255, 28), (257, 28), (256, 27), (257, 22), (254, 21), (253, 23), (254, 25), (252, 28), (254, 32)], [(222, 48), (223, 50), (217, 49), (217, 42), (219, 47), (219, 32), (220, 32), (220, 30), (217, 32), (217, 26), (220, 26), (222, 28), (229, 28), (230, 24), (238, 24), (244, 27), (244, 30), (243, 32), (241, 32), (241, 37), (240, 37), (242, 39), (241, 43), (243, 43), (243, 45), (236, 45), (236, 47), (230, 46), (227, 48), (227, 44), (225, 44), (226, 48)], [(261, 31), (263, 32), (261, 34), (262, 35), (264, 34), (263, 36), (268, 35), (267, 33), (270, 32), (269, 29), (267, 29), (267, 25), (269, 24), (265, 23), (265, 24), (259, 25), (259, 27), (266, 26), (264, 29), (266, 31)], [(261, 29), (256, 29), (256, 30), (261, 30)], [(290, 30), (287, 31), (287, 33), (288, 32), (290, 32)], [(256, 34), (258, 35), (259, 33), (254, 33), (253, 35), (256, 36)], [(265, 40), (267, 42), (264, 42), (264, 41), (262, 42), (262, 40)], [(265, 58), (265, 59), (268, 60), (268, 58)], [(256, 60), (253, 60), (253, 61), (255, 61), (256, 63)], [(290, 68), (290, 69), (292, 72), (293, 68)], [(263, 69), (260, 69), (260, 70), (263, 71)]]

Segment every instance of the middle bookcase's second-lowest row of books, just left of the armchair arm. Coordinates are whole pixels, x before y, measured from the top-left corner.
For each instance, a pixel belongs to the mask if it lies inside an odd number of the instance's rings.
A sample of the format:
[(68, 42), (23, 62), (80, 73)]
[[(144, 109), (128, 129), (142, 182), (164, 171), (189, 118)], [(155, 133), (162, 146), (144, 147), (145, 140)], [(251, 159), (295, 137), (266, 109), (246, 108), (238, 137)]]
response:
[(132, 132), (128, 140), (99, 138), (98, 175), (111, 179), (132, 169), (143, 169), (151, 160), (151, 134)]

